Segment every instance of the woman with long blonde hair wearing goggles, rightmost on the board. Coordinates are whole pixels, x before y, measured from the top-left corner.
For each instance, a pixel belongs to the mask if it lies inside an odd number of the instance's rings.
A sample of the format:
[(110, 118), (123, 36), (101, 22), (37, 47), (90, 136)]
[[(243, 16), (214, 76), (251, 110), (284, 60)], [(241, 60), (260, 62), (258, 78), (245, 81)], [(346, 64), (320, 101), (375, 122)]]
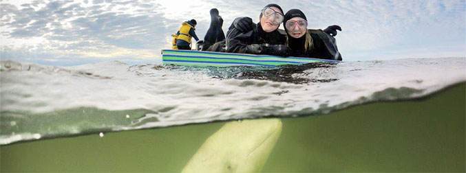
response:
[(339, 26), (330, 26), (324, 31), (308, 30), (306, 15), (297, 9), (286, 12), (284, 25), (291, 56), (341, 60), (335, 38), (331, 36), (336, 35), (336, 30), (341, 30)]

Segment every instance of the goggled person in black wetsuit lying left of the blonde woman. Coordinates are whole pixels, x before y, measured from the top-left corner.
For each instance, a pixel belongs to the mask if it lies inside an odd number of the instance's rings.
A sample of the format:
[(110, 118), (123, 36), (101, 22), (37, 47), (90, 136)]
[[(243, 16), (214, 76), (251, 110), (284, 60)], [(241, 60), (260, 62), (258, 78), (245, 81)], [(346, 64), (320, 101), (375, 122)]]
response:
[[(215, 19), (215, 17), (211, 18), (213, 20), (211, 23), (218, 23)], [(225, 41), (215, 43), (218, 36), (209, 31), (217, 30), (212, 27), (218, 27), (219, 25), (211, 25), (206, 37), (204, 37), (202, 49), (206, 51), (288, 56), (290, 49), (285, 45), (286, 34), (277, 30), (283, 20), (282, 8), (275, 3), (268, 4), (262, 9), (260, 23), (257, 23), (257, 25), (253, 25), (252, 19), (248, 17), (235, 19), (229, 27), (229, 31), (226, 32)], [(247, 25), (238, 23), (238, 21), (245, 21)], [(247, 27), (247, 31), (238, 30), (239, 25)], [(215, 44), (209, 45), (209, 43)]]

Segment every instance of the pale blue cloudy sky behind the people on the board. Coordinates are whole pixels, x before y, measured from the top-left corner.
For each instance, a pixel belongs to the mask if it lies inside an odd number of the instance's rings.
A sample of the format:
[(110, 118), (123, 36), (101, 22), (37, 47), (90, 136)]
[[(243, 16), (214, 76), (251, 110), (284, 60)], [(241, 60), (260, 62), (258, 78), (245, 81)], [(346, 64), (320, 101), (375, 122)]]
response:
[(465, 0), (0, 0), (0, 59), (160, 63), (160, 50), (170, 49), (171, 34), (183, 21), (198, 21), (202, 39), (211, 8), (220, 11), (226, 32), (237, 16), (258, 22), (268, 3), (285, 12), (302, 10), (309, 28), (340, 25), (336, 38), (343, 60), (466, 56)]

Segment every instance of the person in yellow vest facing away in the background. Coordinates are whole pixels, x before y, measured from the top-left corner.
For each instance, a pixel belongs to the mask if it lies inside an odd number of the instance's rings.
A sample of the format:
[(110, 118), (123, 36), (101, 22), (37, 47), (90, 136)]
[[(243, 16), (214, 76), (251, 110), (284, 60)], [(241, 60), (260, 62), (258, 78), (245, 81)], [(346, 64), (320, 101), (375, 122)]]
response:
[(178, 38), (176, 40), (176, 46), (178, 49), (191, 49), (191, 38), (194, 37), (195, 41), (198, 41), (199, 38), (196, 36), (194, 30), (195, 25), (198, 23), (191, 19), (191, 21), (185, 21), (182, 23), (180, 30), (176, 33)]

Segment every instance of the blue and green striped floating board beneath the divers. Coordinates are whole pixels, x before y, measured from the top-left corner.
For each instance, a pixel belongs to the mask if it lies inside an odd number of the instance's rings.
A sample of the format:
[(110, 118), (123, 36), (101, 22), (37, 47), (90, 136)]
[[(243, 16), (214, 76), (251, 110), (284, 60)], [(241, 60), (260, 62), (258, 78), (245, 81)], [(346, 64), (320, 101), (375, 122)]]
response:
[(268, 66), (301, 65), (311, 62), (338, 62), (318, 58), (281, 57), (254, 54), (233, 54), (213, 51), (162, 49), (164, 65), (195, 67)]

